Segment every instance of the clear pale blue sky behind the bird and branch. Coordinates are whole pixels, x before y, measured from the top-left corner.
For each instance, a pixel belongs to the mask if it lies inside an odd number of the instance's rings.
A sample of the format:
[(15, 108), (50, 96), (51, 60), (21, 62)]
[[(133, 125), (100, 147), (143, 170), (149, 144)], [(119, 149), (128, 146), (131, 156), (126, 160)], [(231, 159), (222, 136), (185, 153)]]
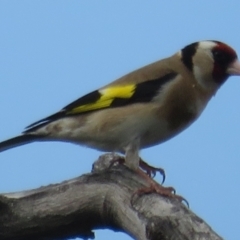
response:
[[(0, 1), (0, 140), (76, 98), (198, 40), (240, 55), (240, 2)], [(240, 77), (230, 78), (200, 119), (176, 138), (142, 151), (225, 239), (240, 236)], [(100, 152), (34, 143), (0, 154), (0, 192), (87, 173)], [(158, 176), (157, 180), (161, 181)], [(96, 231), (96, 239), (130, 239)]]

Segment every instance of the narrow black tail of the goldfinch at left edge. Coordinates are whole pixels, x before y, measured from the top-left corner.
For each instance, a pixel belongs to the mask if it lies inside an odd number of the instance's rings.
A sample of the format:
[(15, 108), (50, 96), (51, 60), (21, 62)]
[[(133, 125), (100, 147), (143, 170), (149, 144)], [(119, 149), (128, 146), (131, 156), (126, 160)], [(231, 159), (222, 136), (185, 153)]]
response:
[(10, 148), (18, 147), (27, 143), (35, 142), (40, 140), (42, 137), (38, 135), (20, 135), (6, 141), (0, 142), (0, 152), (8, 150)]

